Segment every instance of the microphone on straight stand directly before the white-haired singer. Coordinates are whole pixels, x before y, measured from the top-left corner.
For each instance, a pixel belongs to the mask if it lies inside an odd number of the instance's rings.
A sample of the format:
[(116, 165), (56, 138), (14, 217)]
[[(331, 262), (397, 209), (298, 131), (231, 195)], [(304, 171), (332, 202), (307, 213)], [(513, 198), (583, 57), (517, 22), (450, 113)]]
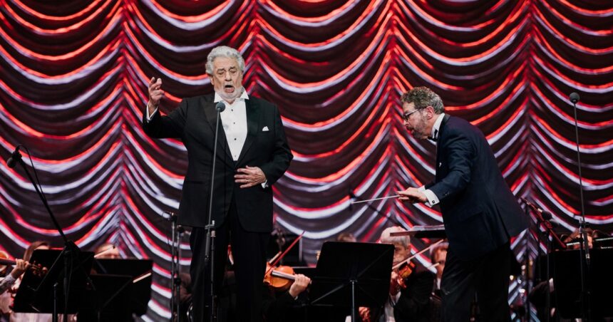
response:
[(209, 219), (205, 227), (207, 229), (207, 241), (205, 244), (205, 266), (210, 264), (210, 322), (217, 321), (217, 307), (215, 306), (215, 220), (212, 220), (213, 212), (213, 189), (215, 189), (215, 160), (217, 160), (217, 137), (219, 136), (220, 114), (225, 110), (226, 105), (223, 102), (217, 102), (215, 109), (217, 110), (217, 121), (215, 122), (215, 137), (213, 140), (213, 162), (211, 166), (211, 187), (209, 189)]

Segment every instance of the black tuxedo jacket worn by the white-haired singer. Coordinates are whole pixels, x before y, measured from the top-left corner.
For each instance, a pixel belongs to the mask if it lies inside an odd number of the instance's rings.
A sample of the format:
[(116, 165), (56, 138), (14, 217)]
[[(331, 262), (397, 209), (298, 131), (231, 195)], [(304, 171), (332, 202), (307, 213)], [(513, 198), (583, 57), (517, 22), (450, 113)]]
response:
[[(178, 223), (205, 227), (208, 218), (210, 177), (217, 110), (214, 95), (185, 98), (168, 116), (155, 113), (148, 122), (143, 115), (143, 130), (150, 137), (180, 138), (187, 148), (187, 174), (183, 182)], [(272, 184), (283, 175), (292, 152), (289, 150), (277, 106), (259, 98), (245, 100), (247, 139), (237, 162), (232, 160), (220, 120), (215, 164), (212, 219), (219, 227), (236, 200), (242, 227), (252, 232), (272, 231)], [(236, 170), (247, 165), (260, 167), (268, 187), (255, 185), (245, 189), (235, 183)]]

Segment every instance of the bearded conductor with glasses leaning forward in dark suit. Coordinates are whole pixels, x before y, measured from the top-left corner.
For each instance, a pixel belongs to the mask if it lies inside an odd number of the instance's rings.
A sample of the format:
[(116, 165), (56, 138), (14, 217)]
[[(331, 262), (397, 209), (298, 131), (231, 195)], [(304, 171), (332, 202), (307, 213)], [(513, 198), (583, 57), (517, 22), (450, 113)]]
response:
[(436, 177), (409, 187), (401, 200), (440, 204), (449, 249), (441, 281), (444, 321), (468, 321), (476, 291), (483, 321), (510, 321), (510, 239), (527, 228), (488, 140), (461, 118), (445, 114), (432, 90), (401, 98), (406, 129), (436, 142)]

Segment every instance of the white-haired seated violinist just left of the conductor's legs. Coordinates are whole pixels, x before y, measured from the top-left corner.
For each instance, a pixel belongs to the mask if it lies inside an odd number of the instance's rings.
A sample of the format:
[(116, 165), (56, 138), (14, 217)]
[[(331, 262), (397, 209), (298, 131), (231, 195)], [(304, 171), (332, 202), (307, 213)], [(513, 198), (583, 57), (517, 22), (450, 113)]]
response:
[[(381, 243), (393, 244), (393, 264), (411, 256), (411, 239), (408, 236), (391, 237), (391, 232), (405, 232), (401, 227), (388, 227), (381, 233)], [(434, 274), (416, 269), (398, 284), (398, 272), (392, 271), (389, 297), (383, 308), (360, 308), (362, 321), (431, 321), (430, 297), (434, 287)]]

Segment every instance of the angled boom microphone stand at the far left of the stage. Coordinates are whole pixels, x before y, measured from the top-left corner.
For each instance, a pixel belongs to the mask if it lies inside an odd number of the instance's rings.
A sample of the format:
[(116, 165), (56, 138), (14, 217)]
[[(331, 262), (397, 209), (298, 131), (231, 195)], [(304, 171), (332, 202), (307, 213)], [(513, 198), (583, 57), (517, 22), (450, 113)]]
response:
[[(21, 145), (21, 146), (23, 146), (28, 152), (28, 155), (30, 155), (30, 151), (28, 150), (28, 148), (25, 147), (24, 145)], [(7, 165), (9, 165), (9, 167), (12, 168), (14, 167), (14, 162), (19, 163), (19, 165), (21, 165), (21, 168), (24, 169), (24, 172), (26, 172), (28, 179), (34, 186), (34, 190), (36, 190), (36, 193), (38, 194), (38, 198), (41, 199), (41, 201), (43, 202), (43, 205), (45, 206), (45, 209), (47, 210), (47, 213), (49, 214), (49, 217), (51, 217), (51, 222), (53, 222), (53, 226), (56, 227), (56, 230), (58, 231), (58, 233), (60, 234), (60, 236), (62, 237), (64, 241), (64, 248), (62, 249), (60, 256), (62, 256), (62, 254), (64, 255), (63, 256), (63, 264), (64, 264), (63, 266), (63, 269), (64, 269), (64, 273), (63, 273), (63, 295), (64, 295), (63, 321), (67, 322), (68, 321), (68, 312), (67, 312), (68, 311), (68, 296), (70, 295), (70, 280), (71, 280), (69, 275), (72, 274), (72, 267), (71, 269), (68, 269), (68, 266), (72, 266), (73, 261), (78, 258), (80, 249), (78, 248), (78, 246), (76, 246), (76, 244), (73, 241), (68, 240), (68, 238), (66, 237), (66, 234), (64, 234), (60, 224), (58, 223), (56, 219), (56, 216), (53, 214), (53, 212), (51, 211), (51, 207), (49, 207), (49, 204), (47, 203), (46, 197), (44, 196), (42, 190), (38, 188), (38, 185), (40, 185), (40, 183), (36, 185), (34, 178), (32, 177), (32, 175), (28, 171), (28, 168), (26, 167), (26, 162), (22, 160), (21, 153), (19, 152), (19, 147), (17, 147), (17, 150), (14, 152), (14, 155), (12, 156), (12, 161), (9, 160), (9, 162), (7, 162)], [(32, 162), (31, 158), (30, 158), (30, 162)], [(34, 175), (36, 175), (36, 168), (34, 167), (34, 163), (32, 163), (32, 168), (34, 169)], [(36, 175), (36, 179), (38, 181), (38, 175)], [(68, 259), (70, 259), (70, 261)], [(70, 265), (68, 265), (68, 263), (70, 263)], [(68, 274), (69, 272), (70, 274)], [(89, 276), (87, 274), (86, 274), (86, 279), (91, 283), (91, 279), (89, 279)], [(93, 286), (93, 284), (91, 285)], [(58, 304), (59, 304), (58, 288), (59, 286), (60, 285), (58, 282), (53, 284), (53, 316), (52, 316), (53, 322), (58, 322)]]

